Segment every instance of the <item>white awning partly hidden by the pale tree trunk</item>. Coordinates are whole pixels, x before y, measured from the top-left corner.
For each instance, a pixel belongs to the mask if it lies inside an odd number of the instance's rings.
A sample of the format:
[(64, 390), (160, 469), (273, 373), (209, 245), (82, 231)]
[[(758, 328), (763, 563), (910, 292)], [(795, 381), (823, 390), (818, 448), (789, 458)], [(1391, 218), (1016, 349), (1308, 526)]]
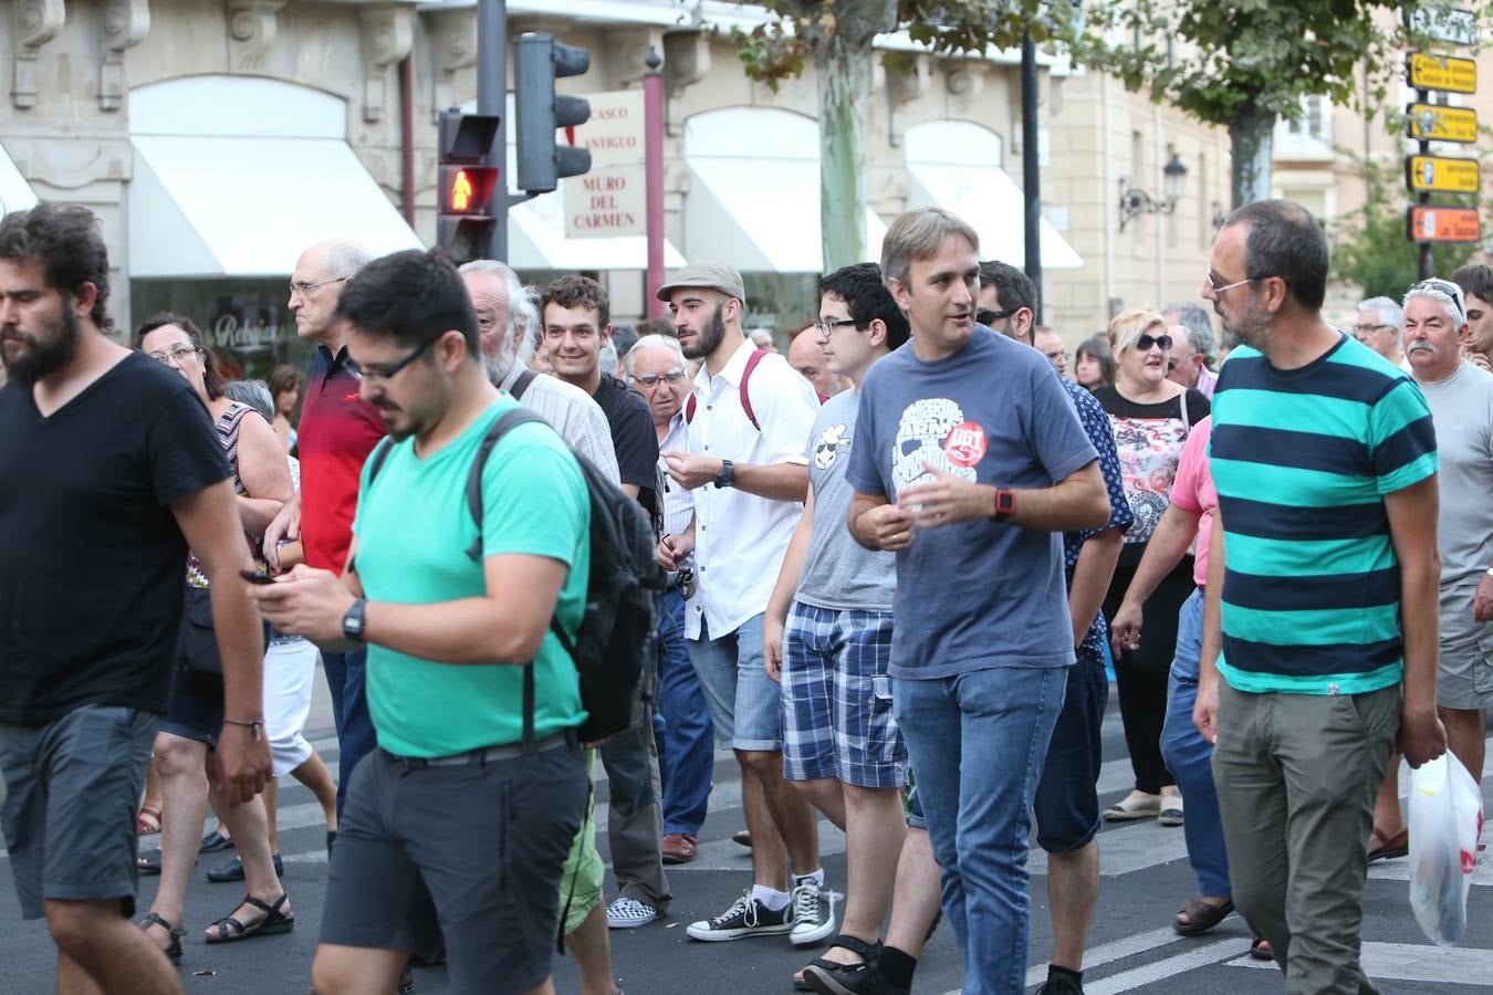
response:
[[(823, 273), (820, 163), (811, 158), (691, 155), (684, 248), (742, 271)], [(885, 222), (866, 207), (866, 260), (881, 258)]]

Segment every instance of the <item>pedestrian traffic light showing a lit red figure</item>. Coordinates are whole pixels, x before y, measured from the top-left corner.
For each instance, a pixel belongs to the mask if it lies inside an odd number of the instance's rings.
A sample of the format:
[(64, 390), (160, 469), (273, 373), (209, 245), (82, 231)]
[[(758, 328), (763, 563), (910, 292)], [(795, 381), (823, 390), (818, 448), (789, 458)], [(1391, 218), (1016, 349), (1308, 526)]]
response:
[(440, 112), (436, 245), (457, 264), (487, 255), (497, 225), (493, 195), (506, 192), (497, 166), (488, 164), (497, 124), (497, 115)]

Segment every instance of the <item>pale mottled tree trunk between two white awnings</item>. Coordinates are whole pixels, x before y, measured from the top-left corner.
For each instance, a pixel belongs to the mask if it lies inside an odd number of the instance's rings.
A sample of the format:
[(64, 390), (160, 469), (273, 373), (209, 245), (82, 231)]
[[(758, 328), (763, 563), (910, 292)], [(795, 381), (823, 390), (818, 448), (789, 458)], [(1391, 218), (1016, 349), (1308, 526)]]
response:
[[(820, 82), (820, 239), (824, 271), (864, 263), (866, 103), (872, 49), (826, 39), (815, 49)], [(879, 246), (878, 246), (879, 248)]]

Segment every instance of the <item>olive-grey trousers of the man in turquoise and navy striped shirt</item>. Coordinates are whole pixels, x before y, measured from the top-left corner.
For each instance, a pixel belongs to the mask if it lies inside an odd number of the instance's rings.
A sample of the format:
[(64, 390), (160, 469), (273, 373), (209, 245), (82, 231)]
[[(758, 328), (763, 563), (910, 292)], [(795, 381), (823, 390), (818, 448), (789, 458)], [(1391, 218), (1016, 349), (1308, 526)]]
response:
[(1374, 795), (1399, 685), (1360, 695), (1218, 688), (1214, 783), (1233, 903), (1271, 941), (1288, 995), (1374, 995), (1359, 965)]

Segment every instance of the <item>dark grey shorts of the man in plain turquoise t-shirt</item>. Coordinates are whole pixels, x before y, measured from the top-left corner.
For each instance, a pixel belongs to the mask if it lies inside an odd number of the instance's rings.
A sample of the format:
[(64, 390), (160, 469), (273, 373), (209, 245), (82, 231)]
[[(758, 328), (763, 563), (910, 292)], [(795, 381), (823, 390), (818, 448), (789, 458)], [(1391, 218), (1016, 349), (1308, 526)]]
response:
[(451, 991), (540, 985), (588, 791), (581, 749), (564, 740), (439, 767), (373, 750), (349, 779), (321, 941), (428, 952), (443, 935)]

